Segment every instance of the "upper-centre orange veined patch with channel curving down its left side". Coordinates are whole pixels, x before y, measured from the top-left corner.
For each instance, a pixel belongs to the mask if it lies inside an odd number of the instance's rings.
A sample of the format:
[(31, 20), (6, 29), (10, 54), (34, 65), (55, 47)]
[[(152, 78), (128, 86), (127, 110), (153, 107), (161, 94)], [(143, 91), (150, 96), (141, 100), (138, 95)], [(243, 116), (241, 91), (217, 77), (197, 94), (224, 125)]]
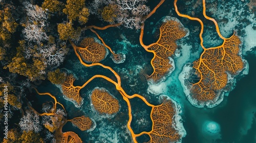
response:
[(173, 68), (168, 57), (174, 55), (177, 49), (176, 40), (184, 37), (186, 31), (178, 21), (168, 20), (160, 27), (160, 35), (157, 42), (150, 45), (145, 45), (143, 43), (143, 32), (144, 25), (141, 28), (140, 44), (147, 52), (154, 54), (154, 57), (151, 60), (151, 65), (154, 71), (148, 79), (158, 82), (171, 68)]

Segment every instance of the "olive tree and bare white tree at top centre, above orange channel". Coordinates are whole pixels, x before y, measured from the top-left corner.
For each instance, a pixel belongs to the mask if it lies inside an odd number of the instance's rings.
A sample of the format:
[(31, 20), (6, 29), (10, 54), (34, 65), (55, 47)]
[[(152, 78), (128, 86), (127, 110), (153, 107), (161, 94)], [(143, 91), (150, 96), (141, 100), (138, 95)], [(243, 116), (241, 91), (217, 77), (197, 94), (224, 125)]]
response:
[(140, 29), (143, 16), (150, 12), (146, 0), (94, 0), (90, 13), (110, 23), (121, 23), (125, 28)]

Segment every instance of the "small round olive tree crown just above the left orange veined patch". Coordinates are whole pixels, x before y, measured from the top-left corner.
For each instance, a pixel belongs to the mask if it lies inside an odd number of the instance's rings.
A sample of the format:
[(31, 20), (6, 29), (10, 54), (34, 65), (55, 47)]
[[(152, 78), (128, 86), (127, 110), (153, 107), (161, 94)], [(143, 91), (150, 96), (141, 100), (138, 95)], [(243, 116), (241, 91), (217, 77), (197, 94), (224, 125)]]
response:
[(50, 71), (48, 74), (48, 80), (53, 84), (62, 84), (65, 82), (66, 74), (61, 72), (59, 68), (54, 71)]

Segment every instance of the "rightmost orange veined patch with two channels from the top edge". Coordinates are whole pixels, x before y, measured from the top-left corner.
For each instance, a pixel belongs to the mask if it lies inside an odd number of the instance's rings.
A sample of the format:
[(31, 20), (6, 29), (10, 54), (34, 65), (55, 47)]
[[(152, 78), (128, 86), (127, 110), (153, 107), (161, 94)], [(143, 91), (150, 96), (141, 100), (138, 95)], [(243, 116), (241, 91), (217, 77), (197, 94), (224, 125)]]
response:
[(217, 21), (206, 15), (205, 0), (203, 0), (203, 15), (206, 19), (215, 23), (216, 31), (223, 43), (220, 46), (205, 48), (203, 46), (203, 22), (199, 18), (190, 17), (185, 14), (181, 14), (177, 8), (177, 0), (174, 1), (174, 6), (177, 14), (182, 17), (186, 17), (190, 20), (197, 20), (201, 24), (201, 46), (203, 53), (200, 58), (193, 63), (195, 69), (195, 75), (199, 78), (199, 81), (193, 83), (191, 86), (192, 98), (199, 101), (199, 103), (205, 103), (218, 98), (218, 91), (223, 89), (227, 85), (228, 75), (237, 75), (244, 67), (242, 58), (239, 56), (239, 45), (241, 41), (235, 33), (225, 38), (221, 35)]

